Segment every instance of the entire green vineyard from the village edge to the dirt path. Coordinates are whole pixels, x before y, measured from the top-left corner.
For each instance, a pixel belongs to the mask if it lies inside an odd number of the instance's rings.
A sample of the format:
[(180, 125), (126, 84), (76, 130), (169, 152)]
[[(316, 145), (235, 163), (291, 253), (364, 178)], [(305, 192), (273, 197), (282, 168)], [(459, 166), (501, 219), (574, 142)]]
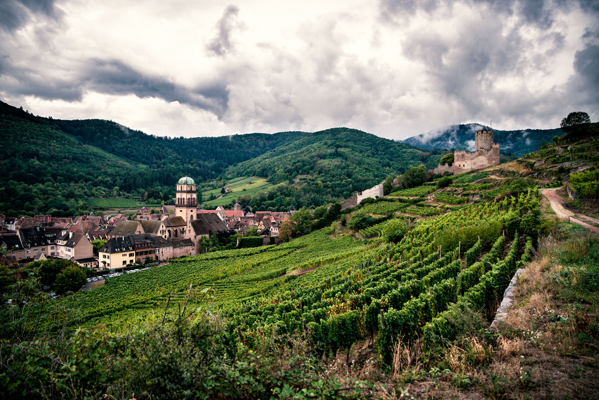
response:
[[(331, 238), (326, 228), (280, 246), (183, 257), (110, 278), (69, 301), (82, 311), (83, 326), (114, 328), (158, 317), (167, 299), (168, 307), (179, 307), (190, 285), (210, 287), (216, 295), (214, 308), (228, 321), (222, 338), (226, 343), (240, 340), (240, 332), (250, 344), (264, 329), (280, 334), (307, 329), (317, 349), (336, 351), (379, 332), (378, 349), (389, 361), (398, 337), (434, 341), (451, 332), (450, 303), (494, 304), (522, 251), (518, 240), (501, 235), (500, 226), (538, 210), (536, 196), (528, 190), (518, 198), (462, 205), (455, 211), (379, 201), (358, 212), (401, 210), (425, 217), (410, 225), (398, 243), (382, 238), (383, 229), (397, 219), (363, 229), (362, 237), (370, 240), (347, 234)], [(458, 251), (459, 232), (471, 229), (486, 236), (469, 246), (464, 237)], [(448, 240), (453, 244), (439, 247)], [(529, 247), (527, 243), (527, 251)]]

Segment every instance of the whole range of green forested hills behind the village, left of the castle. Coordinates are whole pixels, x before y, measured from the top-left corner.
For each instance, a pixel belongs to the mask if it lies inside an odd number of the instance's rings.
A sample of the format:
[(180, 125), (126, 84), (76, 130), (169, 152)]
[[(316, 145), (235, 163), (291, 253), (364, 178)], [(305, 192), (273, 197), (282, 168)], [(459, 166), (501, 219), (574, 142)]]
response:
[(0, 213), (8, 216), (73, 215), (89, 211), (86, 197), (170, 201), (182, 175), (199, 184), (258, 175), (284, 184), (253, 205), (321, 205), (409, 166), (432, 168), (440, 157), (355, 129), (164, 138), (106, 120), (37, 117), (3, 102), (0, 135)]

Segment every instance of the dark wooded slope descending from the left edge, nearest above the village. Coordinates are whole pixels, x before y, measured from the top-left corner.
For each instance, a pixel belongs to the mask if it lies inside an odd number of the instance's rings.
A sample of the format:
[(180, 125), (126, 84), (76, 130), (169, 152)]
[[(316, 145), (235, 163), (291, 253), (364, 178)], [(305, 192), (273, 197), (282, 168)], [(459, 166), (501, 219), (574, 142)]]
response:
[(8, 216), (70, 216), (87, 210), (84, 197), (115, 195), (126, 181), (150, 172), (145, 165), (82, 144), (43, 120), (2, 116), (0, 137), (0, 212)]

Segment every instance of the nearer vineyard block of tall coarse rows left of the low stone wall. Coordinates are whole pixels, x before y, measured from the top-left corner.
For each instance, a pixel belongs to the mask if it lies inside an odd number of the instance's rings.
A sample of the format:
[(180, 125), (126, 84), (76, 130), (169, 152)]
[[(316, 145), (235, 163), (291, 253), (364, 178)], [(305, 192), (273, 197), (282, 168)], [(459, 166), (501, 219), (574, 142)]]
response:
[[(437, 232), (449, 226), (504, 225), (522, 210), (538, 205), (529, 192), (520, 199), (506, 198), (421, 220), (397, 244), (371, 240), (360, 253), (322, 265), (289, 281), (277, 293), (224, 309), (229, 335), (236, 337), (241, 330), (244, 340), (250, 341), (261, 329), (282, 334), (308, 329), (316, 346), (335, 351), (380, 331), (379, 350), (389, 360), (398, 337), (420, 337), (426, 326), (432, 340), (437, 328), (430, 324), (435, 316), (435, 322), (440, 321), (451, 302), (494, 304), (518, 265), (522, 249), (513, 237), (487, 237), (489, 243), (479, 238), (471, 249), (462, 247), (458, 254), (458, 249), (442, 252), (432, 244)], [(506, 244), (509, 251), (504, 256)], [(528, 252), (530, 246), (527, 243)], [(438, 329), (451, 329), (449, 320), (443, 324)]]

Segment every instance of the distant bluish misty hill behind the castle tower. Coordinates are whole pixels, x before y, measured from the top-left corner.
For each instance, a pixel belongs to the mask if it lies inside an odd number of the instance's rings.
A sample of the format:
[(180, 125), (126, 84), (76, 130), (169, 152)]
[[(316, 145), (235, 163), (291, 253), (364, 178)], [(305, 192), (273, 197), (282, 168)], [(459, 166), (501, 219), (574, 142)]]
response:
[[(440, 131), (416, 135), (402, 143), (424, 149), (474, 150), (474, 132), (482, 128), (477, 123), (451, 125)], [(539, 150), (543, 143), (550, 143), (554, 136), (564, 134), (561, 129), (524, 129), (518, 131), (495, 130), (495, 143), (500, 144), (501, 153), (512, 153), (520, 157)]]

